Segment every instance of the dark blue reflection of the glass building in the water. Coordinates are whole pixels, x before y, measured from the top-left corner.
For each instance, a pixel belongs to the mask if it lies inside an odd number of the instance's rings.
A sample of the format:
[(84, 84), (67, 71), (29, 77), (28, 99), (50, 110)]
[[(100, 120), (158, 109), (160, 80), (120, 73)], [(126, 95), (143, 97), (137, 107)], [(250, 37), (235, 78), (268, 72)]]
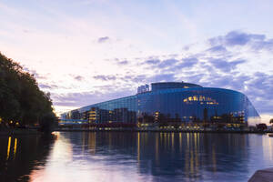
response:
[[(204, 171), (217, 173), (221, 170), (217, 168), (218, 163), (236, 167), (243, 165), (248, 158), (244, 153), (247, 147), (247, 136), (244, 135), (110, 132), (82, 133), (78, 137), (83, 140), (82, 152), (88, 148), (86, 155), (96, 155), (97, 150), (98, 154), (109, 157), (105, 162), (110, 166), (113, 160), (119, 163), (116, 154), (130, 159), (136, 157), (136, 166), (133, 167), (137, 167), (138, 173), (154, 177), (201, 179)], [(132, 148), (136, 148), (135, 151)], [(231, 156), (236, 157), (235, 160), (225, 161)]]

